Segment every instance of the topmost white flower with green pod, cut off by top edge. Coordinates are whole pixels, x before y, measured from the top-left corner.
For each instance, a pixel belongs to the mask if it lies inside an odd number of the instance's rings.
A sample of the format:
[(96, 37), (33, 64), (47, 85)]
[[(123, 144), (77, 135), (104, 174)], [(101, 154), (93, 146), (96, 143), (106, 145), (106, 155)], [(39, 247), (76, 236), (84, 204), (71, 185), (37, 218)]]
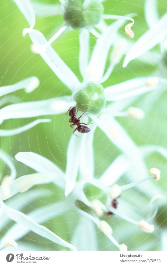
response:
[[(52, 16), (54, 14), (54, 11), (55, 15), (64, 13), (64, 23), (62, 27), (45, 44), (33, 44), (32, 51), (34, 53), (40, 54), (40, 52), (44, 52), (47, 47), (60, 36), (60, 34), (62, 34), (65, 30), (69, 30), (70, 28), (84, 28), (97, 38), (100, 38), (101, 34), (98, 31), (103, 31), (103, 24), (105, 24), (104, 20), (106, 19), (131, 20), (132, 23), (126, 26), (125, 31), (127, 35), (132, 38), (132, 31), (130, 31), (130, 29), (127, 30), (127, 27), (129, 28), (129, 25), (132, 26), (134, 24), (134, 19), (128, 16), (103, 14), (104, 8), (101, 0), (60, 0), (60, 4), (54, 4), (50, 6), (43, 3), (31, 3), (30, 0), (28, 2), (26, 2), (25, 0), (15, 0), (15, 2), (27, 19), (30, 25), (30, 29), (33, 29), (35, 24), (35, 11), (38, 16), (42, 17), (45, 15)], [(98, 31), (95, 29), (95, 27), (98, 29)], [(23, 31), (23, 34), (25, 35), (27, 32), (29, 32), (30, 29), (25, 29)], [(131, 32), (131, 34), (128, 34), (128, 32)]]

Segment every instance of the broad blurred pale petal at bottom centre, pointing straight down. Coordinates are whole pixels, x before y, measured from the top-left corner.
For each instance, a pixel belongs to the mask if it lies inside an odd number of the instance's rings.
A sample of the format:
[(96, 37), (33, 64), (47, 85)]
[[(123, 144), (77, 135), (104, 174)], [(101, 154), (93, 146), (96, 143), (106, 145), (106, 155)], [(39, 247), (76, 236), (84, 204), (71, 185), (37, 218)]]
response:
[(82, 218), (75, 228), (71, 242), (77, 250), (98, 250), (97, 237), (93, 222)]

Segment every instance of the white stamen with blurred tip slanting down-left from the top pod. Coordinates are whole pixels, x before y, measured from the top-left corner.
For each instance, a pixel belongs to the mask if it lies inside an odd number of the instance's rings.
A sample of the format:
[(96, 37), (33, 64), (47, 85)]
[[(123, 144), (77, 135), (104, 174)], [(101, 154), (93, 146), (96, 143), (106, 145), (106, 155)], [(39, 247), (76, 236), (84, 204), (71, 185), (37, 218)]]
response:
[(37, 53), (37, 54), (40, 54), (40, 53), (43, 53), (46, 48), (53, 43), (53, 41), (55, 41), (55, 39), (57, 39), (60, 34), (62, 34), (63, 31), (65, 31), (65, 29), (67, 29), (67, 25), (63, 25), (56, 33), (54, 36), (52, 36), (52, 38), (50, 38), (50, 40), (46, 43), (46, 44), (43, 44), (43, 45), (32, 45), (31, 46), (31, 50), (33, 53)]

